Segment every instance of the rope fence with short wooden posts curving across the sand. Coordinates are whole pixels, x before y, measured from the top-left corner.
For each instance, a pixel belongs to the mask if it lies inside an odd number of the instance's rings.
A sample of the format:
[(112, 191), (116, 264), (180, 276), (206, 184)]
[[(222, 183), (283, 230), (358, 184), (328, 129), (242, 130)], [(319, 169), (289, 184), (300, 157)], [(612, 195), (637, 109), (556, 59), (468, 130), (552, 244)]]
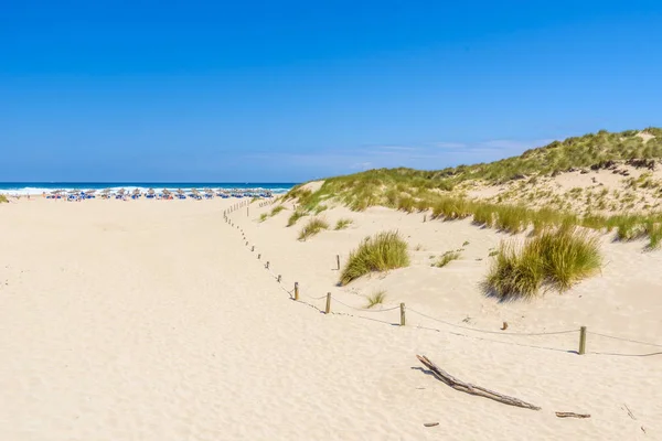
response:
[[(270, 201), (264, 201), (259, 203), (260, 207), (264, 206), (268, 206), (271, 205), (276, 202), (276, 198), (270, 200)], [(245, 246), (247, 248), (249, 248), (250, 252), (255, 251), (255, 245), (249, 245), (249, 241), (246, 238), (246, 235), (243, 230), (243, 228), (241, 228), (238, 225), (236, 225), (231, 218), (229, 218), (229, 214), (242, 209), (244, 207), (248, 207), (250, 204), (250, 202), (248, 201), (244, 201), (244, 202), (238, 202), (236, 204), (233, 204), (229, 208), (225, 209), (223, 212), (223, 218), (225, 220), (226, 224), (228, 224), (231, 227), (236, 228), (239, 230), (239, 233), (242, 234), (242, 240), (245, 243)], [(249, 216), (249, 212), (246, 211), (246, 216)], [(257, 255), (257, 259), (259, 260), (261, 258), (261, 254)], [(340, 256), (337, 255), (335, 256), (335, 260), (337, 260), (337, 267), (340, 270)], [(350, 315), (350, 316), (355, 316), (355, 318), (360, 318), (360, 319), (366, 319), (366, 320), (374, 320), (367, 316), (361, 316), (361, 315), (355, 315), (355, 314), (348, 314), (344, 312), (332, 312), (331, 311), (331, 306), (335, 303), (339, 303), (345, 308), (349, 308), (352, 311), (357, 311), (361, 313), (371, 313), (371, 314), (380, 314), (380, 313), (386, 313), (386, 312), (392, 312), (392, 311), (396, 311), (399, 310), (401, 312), (401, 320), (399, 320), (399, 325), (401, 326), (405, 326), (406, 325), (406, 312), (410, 312), (414, 313), (416, 315), (419, 315), (424, 319), (434, 321), (436, 323), (441, 323), (446, 326), (449, 327), (455, 327), (455, 329), (459, 329), (462, 331), (470, 331), (470, 332), (474, 332), (478, 334), (491, 334), (491, 335), (502, 335), (502, 336), (513, 336), (513, 337), (532, 337), (532, 336), (548, 336), (548, 335), (568, 335), (568, 334), (579, 334), (579, 341), (578, 341), (578, 348), (577, 351), (567, 351), (567, 349), (562, 349), (562, 348), (556, 348), (556, 347), (547, 347), (547, 346), (538, 346), (538, 345), (531, 345), (531, 344), (523, 344), (523, 343), (519, 343), (519, 342), (504, 342), (504, 341), (495, 341), (495, 340), (490, 340), (490, 338), (484, 338), (484, 337), (478, 337), (474, 335), (467, 335), (467, 334), (462, 334), (462, 333), (457, 333), (457, 332), (452, 332), (452, 331), (446, 331), (449, 332), (453, 335), (460, 335), (463, 337), (469, 337), (469, 338), (479, 338), (479, 340), (483, 340), (487, 342), (492, 342), (492, 343), (501, 343), (501, 344), (512, 344), (512, 345), (517, 345), (517, 346), (525, 346), (525, 347), (533, 347), (533, 348), (538, 348), (538, 349), (549, 349), (549, 351), (562, 351), (562, 352), (574, 352), (577, 353), (578, 355), (584, 355), (584, 354), (592, 354), (592, 355), (607, 355), (607, 356), (630, 356), (630, 357), (645, 357), (645, 356), (653, 356), (653, 355), (662, 355), (662, 351), (660, 352), (652, 352), (652, 353), (648, 353), (648, 354), (621, 354), (621, 353), (608, 353), (608, 352), (587, 352), (586, 351), (586, 343), (587, 343), (587, 336), (591, 335), (591, 336), (596, 336), (596, 337), (601, 337), (601, 338), (607, 338), (607, 340), (613, 340), (613, 341), (619, 341), (619, 342), (626, 342), (626, 343), (631, 343), (631, 344), (639, 344), (639, 345), (644, 345), (644, 346), (651, 346), (651, 347), (660, 347), (662, 348), (662, 344), (658, 344), (658, 343), (650, 343), (650, 342), (644, 342), (644, 341), (640, 341), (640, 340), (634, 340), (634, 338), (626, 338), (626, 337), (619, 337), (616, 335), (609, 335), (609, 334), (602, 334), (602, 333), (598, 333), (598, 332), (594, 332), (594, 331), (588, 331), (588, 329), (586, 326), (581, 326), (580, 329), (575, 329), (575, 330), (560, 330), (560, 331), (548, 331), (548, 332), (504, 332), (504, 331), (492, 331), (492, 330), (484, 330), (484, 329), (480, 329), (480, 327), (472, 327), (472, 326), (466, 326), (466, 325), (461, 325), (461, 324), (457, 324), (457, 323), (452, 323), (449, 322), (447, 320), (442, 320), (442, 319), (438, 319), (435, 316), (431, 316), (429, 314), (423, 313), (420, 311), (410, 309), (410, 308), (406, 308), (405, 303), (401, 303), (397, 306), (392, 306), (392, 308), (386, 308), (386, 309), (380, 309), (380, 310), (372, 310), (372, 309), (364, 309), (364, 308), (356, 308), (353, 306), (346, 302), (343, 302), (342, 300), (338, 299), (337, 297), (332, 295), (331, 292), (328, 292), (324, 295), (320, 295), (320, 297), (312, 297), (309, 295), (307, 293), (301, 293), (299, 290), (299, 283), (298, 282), (293, 282), (293, 288), (291, 290), (287, 290), (284, 286), (284, 279), (281, 275), (277, 275), (273, 271), (273, 268), (270, 268), (270, 261), (267, 261), (266, 265), (264, 265), (264, 268), (271, 275), (271, 277), (274, 278), (274, 280), (276, 280), (276, 282), (278, 283), (279, 288), (286, 292), (288, 294), (288, 297), (295, 301), (297, 301), (298, 303), (301, 304), (307, 304), (311, 308), (314, 308), (316, 310), (323, 312), (325, 314), (340, 314), (340, 315)], [(325, 299), (325, 306), (324, 309), (320, 309), (317, 305), (312, 304), (312, 303), (308, 303), (303, 300), (301, 300), (301, 297), (311, 300), (311, 301), (320, 301), (320, 300), (324, 300)], [(384, 321), (380, 321), (383, 323), (388, 323), (388, 324), (394, 324), (392, 321), (391, 322), (384, 322)], [(420, 329), (420, 330), (428, 330), (428, 331), (436, 331), (436, 332), (445, 332), (440, 329), (436, 329), (436, 327), (427, 327), (427, 326), (421, 326), (421, 325), (416, 325), (416, 329)]]

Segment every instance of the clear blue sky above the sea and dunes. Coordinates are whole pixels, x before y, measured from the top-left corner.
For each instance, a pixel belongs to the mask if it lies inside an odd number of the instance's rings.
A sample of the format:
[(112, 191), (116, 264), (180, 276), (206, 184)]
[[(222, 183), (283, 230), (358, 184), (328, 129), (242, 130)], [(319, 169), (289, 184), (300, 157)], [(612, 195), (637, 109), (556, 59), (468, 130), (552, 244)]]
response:
[(0, 181), (305, 181), (662, 126), (656, 1), (18, 1)]

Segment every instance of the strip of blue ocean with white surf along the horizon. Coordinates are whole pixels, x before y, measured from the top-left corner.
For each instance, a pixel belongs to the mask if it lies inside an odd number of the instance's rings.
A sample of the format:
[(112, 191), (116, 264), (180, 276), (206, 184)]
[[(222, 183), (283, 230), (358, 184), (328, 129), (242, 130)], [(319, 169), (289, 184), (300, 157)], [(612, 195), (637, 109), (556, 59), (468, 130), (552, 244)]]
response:
[(55, 190), (104, 190), (111, 189), (117, 191), (125, 189), (134, 191), (139, 189), (146, 192), (148, 189), (157, 191), (168, 189), (175, 191), (182, 189), (188, 192), (191, 189), (264, 189), (270, 190), (274, 194), (287, 193), (292, 186), (297, 185), (293, 182), (0, 182), (0, 193), (2, 194), (42, 194), (50, 193)]

